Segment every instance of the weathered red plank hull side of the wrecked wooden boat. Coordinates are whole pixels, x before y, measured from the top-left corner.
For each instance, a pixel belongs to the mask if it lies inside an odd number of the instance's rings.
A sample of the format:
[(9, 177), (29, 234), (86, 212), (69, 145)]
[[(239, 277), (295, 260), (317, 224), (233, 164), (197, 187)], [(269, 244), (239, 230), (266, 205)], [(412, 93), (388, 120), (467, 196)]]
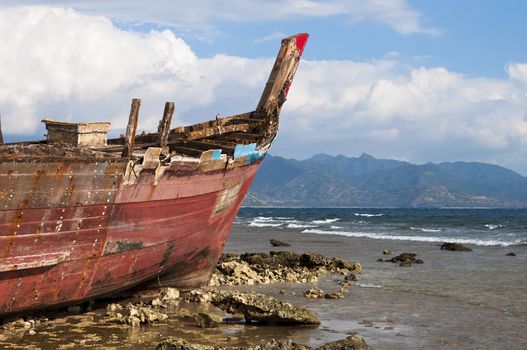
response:
[(130, 186), (122, 162), (1, 163), (0, 314), (75, 303), (168, 271), (181, 287), (203, 285), (259, 163), (174, 164), (157, 180), (143, 169)]

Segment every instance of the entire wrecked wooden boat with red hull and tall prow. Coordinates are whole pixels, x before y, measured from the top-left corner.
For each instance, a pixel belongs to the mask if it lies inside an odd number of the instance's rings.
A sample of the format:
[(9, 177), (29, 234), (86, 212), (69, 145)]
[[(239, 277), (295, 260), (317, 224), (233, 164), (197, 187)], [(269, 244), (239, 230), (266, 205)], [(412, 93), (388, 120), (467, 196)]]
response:
[(47, 139), (0, 139), (0, 315), (110, 295), (156, 279), (206, 284), (278, 129), (308, 34), (282, 40), (252, 112), (136, 135), (44, 120)]

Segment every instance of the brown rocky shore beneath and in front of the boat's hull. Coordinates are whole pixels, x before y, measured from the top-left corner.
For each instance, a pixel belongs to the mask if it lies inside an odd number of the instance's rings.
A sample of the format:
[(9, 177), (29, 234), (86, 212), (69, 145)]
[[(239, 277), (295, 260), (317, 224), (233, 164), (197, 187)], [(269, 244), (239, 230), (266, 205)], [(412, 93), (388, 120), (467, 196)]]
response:
[[(133, 298), (121, 298), (116, 302), (93, 302), (73, 306), (43, 316), (25, 316), (4, 322), (0, 326), (0, 345), (15, 347), (21, 339), (51, 339), (57, 341), (57, 349), (68, 348), (119, 348), (115, 329), (143, 329), (163, 327), (168, 323), (180, 323), (189, 328), (185, 336), (169, 337), (158, 342), (157, 349), (312, 349), (287, 339), (260, 340), (258, 343), (240, 346), (215, 344), (201, 334), (202, 341), (190, 341), (199, 329), (217, 329), (229, 323), (248, 326), (274, 325), (295, 327), (310, 325), (317, 327), (320, 320), (306, 307), (285, 302), (278, 297), (256, 292), (233, 290), (233, 286), (264, 285), (272, 283), (300, 284), (316, 283), (322, 276), (340, 276), (335, 288), (338, 292), (325, 293), (322, 289), (306, 291), (306, 298), (320, 294), (326, 299), (344, 297), (346, 287), (356, 281), (356, 274), (362, 272), (358, 262), (338, 257), (328, 258), (317, 253), (294, 253), (271, 251), (269, 253), (224, 254), (217, 264), (210, 285), (194, 290), (163, 288), (141, 291)], [(225, 289), (230, 288), (230, 289)], [(282, 295), (287, 292), (282, 290)], [(318, 294), (317, 294), (318, 293)], [(318, 297), (318, 296), (316, 296)], [(105, 308), (105, 311), (104, 311)], [(49, 316), (49, 318), (47, 317)], [(71, 323), (71, 325), (70, 325)], [(71, 327), (69, 327), (71, 326)], [(82, 340), (64, 338), (64, 329), (70, 333), (86, 330), (92, 334)], [(204, 332), (204, 331), (202, 331)], [(110, 336), (107, 337), (107, 333)], [(71, 338), (71, 337), (70, 337)], [(220, 342), (221, 343), (221, 342)], [(37, 347), (38, 348), (38, 347)], [(152, 346), (151, 348), (155, 348)], [(339, 342), (331, 342), (317, 349), (371, 349), (364, 339), (353, 334)]]

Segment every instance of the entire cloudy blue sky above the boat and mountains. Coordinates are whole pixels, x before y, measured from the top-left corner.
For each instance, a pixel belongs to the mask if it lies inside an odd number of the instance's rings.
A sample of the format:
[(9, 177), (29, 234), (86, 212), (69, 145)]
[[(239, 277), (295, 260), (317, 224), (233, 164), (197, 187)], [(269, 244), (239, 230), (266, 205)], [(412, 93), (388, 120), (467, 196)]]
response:
[(41, 119), (139, 129), (255, 108), (280, 40), (310, 39), (271, 153), (479, 161), (527, 176), (527, 2), (0, 0), (7, 141)]

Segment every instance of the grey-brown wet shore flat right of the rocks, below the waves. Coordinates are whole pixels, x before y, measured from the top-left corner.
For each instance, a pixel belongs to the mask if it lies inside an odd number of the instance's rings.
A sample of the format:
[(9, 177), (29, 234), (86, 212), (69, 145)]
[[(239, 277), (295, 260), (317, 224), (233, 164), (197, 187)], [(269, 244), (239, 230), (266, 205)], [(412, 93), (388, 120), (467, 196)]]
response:
[[(291, 246), (271, 247), (271, 238)], [(319, 314), (323, 322), (321, 334), (315, 336), (318, 338), (356, 331), (374, 349), (525, 348), (527, 335), (522, 325), (527, 324), (527, 246), (469, 246), (472, 252), (452, 252), (442, 251), (438, 243), (431, 242), (235, 224), (225, 252), (291, 250), (360, 262), (364, 273), (344, 299), (331, 303), (304, 301), (303, 305)], [(424, 264), (399, 267), (377, 262), (386, 257), (384, 249), (391, 250), (392, 256), (416, 253)], [(505, 256), (510, 251), (517, 256)], [(331, 289), (335, 281), (321, 280), (317, 286)], [(257, 290), (273, 295), (280, 288), (265, 285)], [(310, 286), (291, 288), (298, 294)], [(297, 296), (286, 299), (302, 302)]]

